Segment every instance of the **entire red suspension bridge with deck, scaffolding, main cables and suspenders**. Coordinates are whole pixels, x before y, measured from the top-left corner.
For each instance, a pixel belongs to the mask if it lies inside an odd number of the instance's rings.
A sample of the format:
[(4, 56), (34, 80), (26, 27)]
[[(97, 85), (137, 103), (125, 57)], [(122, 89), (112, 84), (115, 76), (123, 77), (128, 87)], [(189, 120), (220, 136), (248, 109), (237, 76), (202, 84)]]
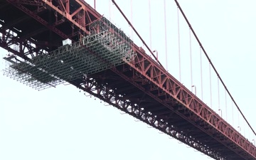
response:
[[(130, 3), (127, 15), (125, 7), (110, 1), (107, 17), (97, 12), (96, 1), (90, 6), (80, 0), (1, 0), (0, 46), (9, 52), (4, 57), (8, 63), (4, 75), (36, 90), (74, 85), (85, 95), (117, 107), (213, 159), (255, 159), (253, 127), (178, 1), (164, 1), (161, 37), (156, 41), (154, 33), (160, 31), (151, 19), (154, 2), (144, 1), (149, 7), (146, 38), (134, 25), (135, 2)], [(174, 23), (168, 21), (170, 5), (176, 17), (173, 39), (168, 36), (169, 23)], [(114, 9), (117, 11), (112, 13)], [(119, 23), (127, 24), (124, 28), (111, 19), (117, 13)], [(157, 41), (164, 49), (152, 49)], [(170, 41), (171, 46), (178, 46), (173, 50), (178, 54), (169, 55)], [(186, 60), (182, 59), (184, 53)], [(170, 68), (174, 65), (178, 67)], [(183, 65), (188, 67), (182, 69)], [(235, 111), (228, 115), (230, 104)]]

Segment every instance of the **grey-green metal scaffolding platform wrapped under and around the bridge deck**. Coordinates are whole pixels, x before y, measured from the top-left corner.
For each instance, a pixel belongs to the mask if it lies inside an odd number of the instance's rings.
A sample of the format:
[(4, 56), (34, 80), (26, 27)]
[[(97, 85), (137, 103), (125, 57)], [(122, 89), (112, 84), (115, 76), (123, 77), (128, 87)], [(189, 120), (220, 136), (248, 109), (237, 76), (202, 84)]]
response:
[(106, 18), (90, 24), (90, 36), (31, 60), (4, 58), (4, 75), (36, 90), (107, 70), (134, 58), (133, 42)]

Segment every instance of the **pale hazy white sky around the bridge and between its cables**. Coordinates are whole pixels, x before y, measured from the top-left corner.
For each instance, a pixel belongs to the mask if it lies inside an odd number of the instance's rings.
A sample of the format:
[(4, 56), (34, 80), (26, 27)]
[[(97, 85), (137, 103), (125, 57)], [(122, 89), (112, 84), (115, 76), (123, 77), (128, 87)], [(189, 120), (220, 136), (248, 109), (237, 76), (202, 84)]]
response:
[[(149, 39), (149, 1), (122, 1), (117, 4), (131, 19), (146, 43)], [(87, 1), (93, 4), (93, 0)], [(181, 7), (198, 34), (204, 48), (227, 84), (242, 112), (256, 129), (255, 121), (255, 37), (256, 2), (220, 0), (181, 0)], [(93, 5), (92, 5), (93, 6)], [(110, 18), (119, 28), (143, 46), (115, 6), (108, 0), (97, 0), (97, 11)], [(132, 10), (132, 14), (131, 14)], [(164, 1), (151, 0), (151, 48), (158, 50), (159, 60), (166, 66)], [(256, 139), (212, 73), (210, 102), (209, 67), (203, 57), (201, 84), (200, 48), (192, 43), (193, 82), (191, 82), (189, 29), (180, 16), (181, 82), (215, 112), (233, 124), (252, 142)], [(131, 18), (132, 17), (132, 18)], [(169, 72), (179, 80), (177, 9), (174, 1), (166, 1), (166, 28)], [(0, 48), (1, 58), (8, 52)], [(0, 60), (1, 70), (5, 66)], [(203, 97), (201, 88), (203, 87)], [(195, 92), (193, 88), (193, 92)], [(218, 98), (220, 97), (220, 98)], [(37, 91), (0, 74), (0, 159), (208, 159), (166, 134), (137, 122), (94, 97), (85, 97), (72, 85)], [(218, 105), (220, 104), (220, 105)], [(219, 111), (221, 110), (221, 112)], [(240, 118), (240, 120), (238, 120)]]

